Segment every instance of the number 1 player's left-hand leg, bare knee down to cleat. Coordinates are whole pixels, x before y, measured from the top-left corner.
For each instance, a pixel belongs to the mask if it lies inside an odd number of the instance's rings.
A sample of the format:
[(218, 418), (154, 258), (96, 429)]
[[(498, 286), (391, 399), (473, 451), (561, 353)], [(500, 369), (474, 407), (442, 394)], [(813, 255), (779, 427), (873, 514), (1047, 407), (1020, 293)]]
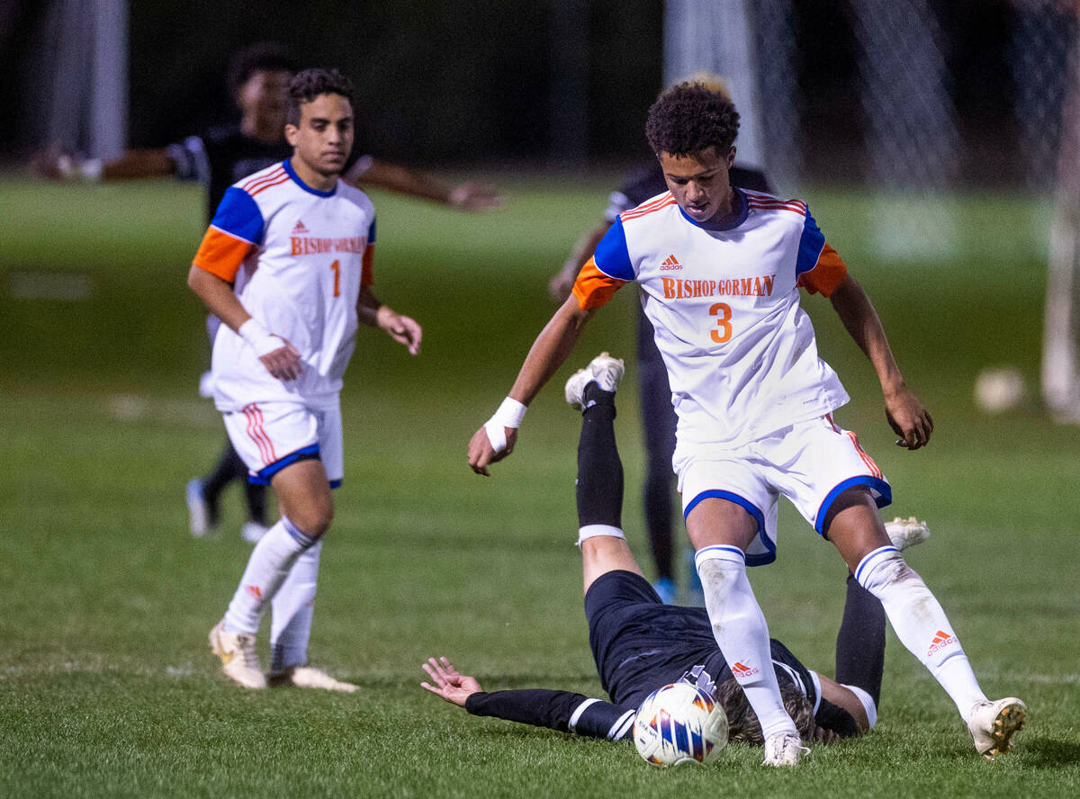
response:
[(245, 688), (267, 687), (255, 651), (259, 622), (297, 558), (314, 546), (334, 517), (322, 461), (291, 463), (273, 475), (272, 484), (281, 519), (255, 545), (225, 618), (210, 635), (225, 673)]

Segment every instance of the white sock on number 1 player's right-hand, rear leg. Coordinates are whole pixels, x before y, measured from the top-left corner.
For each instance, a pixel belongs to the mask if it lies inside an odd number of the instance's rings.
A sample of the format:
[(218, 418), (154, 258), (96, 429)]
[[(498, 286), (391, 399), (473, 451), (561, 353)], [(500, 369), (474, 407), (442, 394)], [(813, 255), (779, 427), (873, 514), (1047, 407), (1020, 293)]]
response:
[(274, 594), (270, 614), (270, 672), (284, 672), (308, 662), (308, 639), (315, 615), (315, 583), (323, 542), (309, 547), (288, 571)]

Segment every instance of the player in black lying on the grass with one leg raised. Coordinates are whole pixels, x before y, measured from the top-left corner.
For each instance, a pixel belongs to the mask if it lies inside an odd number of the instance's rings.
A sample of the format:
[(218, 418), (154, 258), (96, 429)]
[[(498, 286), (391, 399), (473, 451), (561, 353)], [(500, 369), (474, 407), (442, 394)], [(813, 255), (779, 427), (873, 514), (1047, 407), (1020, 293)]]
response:
[[(611, 701), (545, 689), (485, 692), (446, 658), (423, 664), (421, 685), (476, 716), (494, 716), (611, 741), (633, 739), (634, 715), (657, 688), (687, 681), (727, 713), (731, 740), (762, 743), (761, 727), (716, 646), (702, 608), (663, 604), (644, 579), (622, 531), (623, 471), (615, 434), (622, 362), (602, 353), (566, 384), (582, 410), (578, 445), (578, 545), (584, 570), (589, 640)], [(910, 519), (889, 526), (894, 544), (926, 539)], [(874, 727), (885, 665), (885, 611), (850, 574), (837, 636), (836, 679), (811, 672), (779, 640), (771, 654), (784, 705), (806, 741), (849, 737)]]

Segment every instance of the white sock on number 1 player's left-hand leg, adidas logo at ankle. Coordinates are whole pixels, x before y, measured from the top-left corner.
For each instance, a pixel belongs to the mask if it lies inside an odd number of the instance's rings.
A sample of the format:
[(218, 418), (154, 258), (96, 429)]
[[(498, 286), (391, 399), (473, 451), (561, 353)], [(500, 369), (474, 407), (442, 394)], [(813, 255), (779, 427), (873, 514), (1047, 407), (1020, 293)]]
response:
[(285, 582), (296, 558), (315, 541), (285, 516), (267, 530), (247, 558), (247, 568), (225, 612), (225, 628), (257, 633), (267, 604)]

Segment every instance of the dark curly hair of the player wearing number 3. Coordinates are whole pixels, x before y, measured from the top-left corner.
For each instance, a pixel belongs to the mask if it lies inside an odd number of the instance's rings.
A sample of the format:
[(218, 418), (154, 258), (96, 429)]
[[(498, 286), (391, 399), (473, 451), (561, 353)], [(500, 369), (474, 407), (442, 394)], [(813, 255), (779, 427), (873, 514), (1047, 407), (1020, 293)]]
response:
[(645, 136), (658, 155), (688, 155), (710, 147), (726, 153), (738, 134), (734, 104), (700, 82), (679, 83), (661, 94), (645, 122)]

